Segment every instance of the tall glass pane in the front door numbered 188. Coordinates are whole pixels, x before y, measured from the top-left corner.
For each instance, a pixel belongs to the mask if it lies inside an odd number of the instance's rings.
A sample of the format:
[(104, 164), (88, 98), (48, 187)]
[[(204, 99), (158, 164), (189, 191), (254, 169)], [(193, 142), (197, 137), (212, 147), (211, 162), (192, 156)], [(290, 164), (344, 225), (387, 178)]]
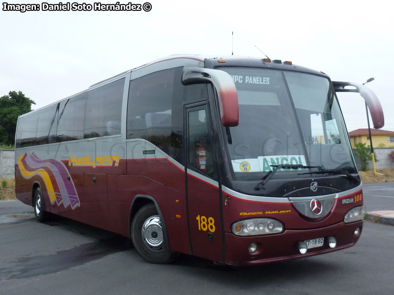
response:
[(205, 110), (189, 112), (189, 163), (213, 177), (212, 144)]

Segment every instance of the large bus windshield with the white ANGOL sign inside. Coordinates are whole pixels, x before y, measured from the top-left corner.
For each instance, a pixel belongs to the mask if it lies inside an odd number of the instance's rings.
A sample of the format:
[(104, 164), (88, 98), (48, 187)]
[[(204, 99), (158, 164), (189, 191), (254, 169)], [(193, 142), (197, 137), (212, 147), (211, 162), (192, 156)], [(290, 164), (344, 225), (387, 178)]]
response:
[(305, 172), (332, 169), (357, 173), (328, 78), (271, 69), (221, 69), (233, 78), (238, 93), (239, 125), (230, 127), (227, 144), (235, 180), (262, 179), (281, 164), (275, 178), (310, 177)]

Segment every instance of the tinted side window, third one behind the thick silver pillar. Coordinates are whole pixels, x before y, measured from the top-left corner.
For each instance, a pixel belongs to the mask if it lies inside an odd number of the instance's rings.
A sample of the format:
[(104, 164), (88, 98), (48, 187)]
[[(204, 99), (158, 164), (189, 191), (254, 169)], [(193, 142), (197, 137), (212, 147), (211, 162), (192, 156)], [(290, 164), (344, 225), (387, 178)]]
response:
[(48, 140), (50, 130), (55, 129), (57, 125), (57, 118), (55, 117), (57, 105), (52, 105), (45, 109), (38, 111), (38, 125), (37, 125), (37, 145), (45, 145), (53, 140)]

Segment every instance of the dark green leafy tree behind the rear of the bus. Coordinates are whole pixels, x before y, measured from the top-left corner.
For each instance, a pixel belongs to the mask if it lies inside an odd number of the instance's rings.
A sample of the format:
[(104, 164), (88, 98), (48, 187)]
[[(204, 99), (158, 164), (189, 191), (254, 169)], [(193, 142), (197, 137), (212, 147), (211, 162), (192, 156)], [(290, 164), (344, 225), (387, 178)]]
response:
[(18, 116), (32, 111), (33, 100), (22, 91), (10, 91), (0, 97), (0, 143), (13, 145)]

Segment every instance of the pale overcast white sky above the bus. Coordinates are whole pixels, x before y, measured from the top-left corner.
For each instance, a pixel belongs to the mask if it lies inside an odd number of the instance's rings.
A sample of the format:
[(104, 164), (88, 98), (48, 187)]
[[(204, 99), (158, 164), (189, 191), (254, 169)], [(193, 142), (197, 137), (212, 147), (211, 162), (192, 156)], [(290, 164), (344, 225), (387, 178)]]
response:
[[(383, 129), (394, 131), (394, 18), (387, 1), (149, 2), (150, 12), (0, 9), (0, 96), (21, 90), (37, 109), (168, 55), (230, 55), (233, 31), (235, 55), (262, 57), (256, 45), (271, 59), (324, 71), (332, 80), (374, 77), (367, 86), (381, 101)], [(366, 128), (361, 96), (338, 97), (348, 130)]]

